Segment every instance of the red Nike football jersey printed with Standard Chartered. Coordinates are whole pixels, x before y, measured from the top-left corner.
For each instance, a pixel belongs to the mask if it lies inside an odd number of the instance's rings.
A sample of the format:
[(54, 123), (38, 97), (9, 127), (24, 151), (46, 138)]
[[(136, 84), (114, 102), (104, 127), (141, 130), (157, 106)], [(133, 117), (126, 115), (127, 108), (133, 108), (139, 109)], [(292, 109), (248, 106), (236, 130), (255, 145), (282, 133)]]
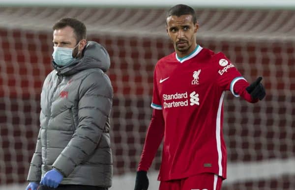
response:
[(162, 109), (165, 121), (158, 180), (203, 172), (226, 178), (223, 97), (226, 90), (238, 96), (238, 80), (245, 79), (224, 54), (199, 45), (185, 57), (173, 53), (157, 62), (151, 107)]

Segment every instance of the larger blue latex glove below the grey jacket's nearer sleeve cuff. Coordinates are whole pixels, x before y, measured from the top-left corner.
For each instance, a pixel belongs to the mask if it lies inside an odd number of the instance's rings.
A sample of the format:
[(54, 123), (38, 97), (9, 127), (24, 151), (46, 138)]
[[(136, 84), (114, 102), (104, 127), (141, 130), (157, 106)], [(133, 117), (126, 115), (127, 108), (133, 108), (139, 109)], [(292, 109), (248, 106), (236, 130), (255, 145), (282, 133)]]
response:
[(58, 170), (52, 169), (45, 173), (41, 179), (40, 184), (50, 188), (57, 188), (59, 183), (62, 181), (63, 176)]

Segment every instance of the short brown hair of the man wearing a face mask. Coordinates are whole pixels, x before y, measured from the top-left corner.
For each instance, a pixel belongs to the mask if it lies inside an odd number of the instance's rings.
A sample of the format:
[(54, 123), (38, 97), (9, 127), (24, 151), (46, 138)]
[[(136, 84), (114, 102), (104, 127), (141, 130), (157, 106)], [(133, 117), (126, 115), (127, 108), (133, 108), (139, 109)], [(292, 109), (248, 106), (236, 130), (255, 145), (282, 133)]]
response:
[(59, 20), (54, 26), (52, 27), (53, 30), (61, 29), (64, 27), (72, 27), (74, 29), (74, 33), (76, 35), (76, 40), (79, 42), (82, 39), (86, 39), (86, 26), (81, 21), (78, 21), (74, 18), (63, 18)]

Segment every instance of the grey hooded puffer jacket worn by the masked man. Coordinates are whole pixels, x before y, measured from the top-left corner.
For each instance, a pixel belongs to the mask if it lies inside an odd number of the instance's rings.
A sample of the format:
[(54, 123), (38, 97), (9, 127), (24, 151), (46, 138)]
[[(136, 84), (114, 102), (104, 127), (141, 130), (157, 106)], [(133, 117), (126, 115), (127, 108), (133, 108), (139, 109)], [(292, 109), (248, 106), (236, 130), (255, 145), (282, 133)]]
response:
[(110, 67), (109, 54), (90, 41), (81, 59), (62, 68), (53, 65), (42, 88), (40, 131), (28, 181), (40, 181), (56, 168), (64, 176), (61, 184), (109, 188), (113, 88), (104, 73)]

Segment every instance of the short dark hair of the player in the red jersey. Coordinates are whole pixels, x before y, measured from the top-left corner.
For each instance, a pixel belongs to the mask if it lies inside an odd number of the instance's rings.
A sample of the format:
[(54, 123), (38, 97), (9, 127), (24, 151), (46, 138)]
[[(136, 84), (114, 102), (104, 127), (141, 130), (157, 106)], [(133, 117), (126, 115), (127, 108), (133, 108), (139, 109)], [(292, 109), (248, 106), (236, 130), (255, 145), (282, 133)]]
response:
[(167, 17), (166, 17), (166, 24), (167, 24), (168, 17), (170, 16), (180, 17), (181, 15), (192, 15), (193, 23), (194, 24), (197, 23), (197, 14), (192, 7), (185, 4), (177, 4), (169, 9)]

